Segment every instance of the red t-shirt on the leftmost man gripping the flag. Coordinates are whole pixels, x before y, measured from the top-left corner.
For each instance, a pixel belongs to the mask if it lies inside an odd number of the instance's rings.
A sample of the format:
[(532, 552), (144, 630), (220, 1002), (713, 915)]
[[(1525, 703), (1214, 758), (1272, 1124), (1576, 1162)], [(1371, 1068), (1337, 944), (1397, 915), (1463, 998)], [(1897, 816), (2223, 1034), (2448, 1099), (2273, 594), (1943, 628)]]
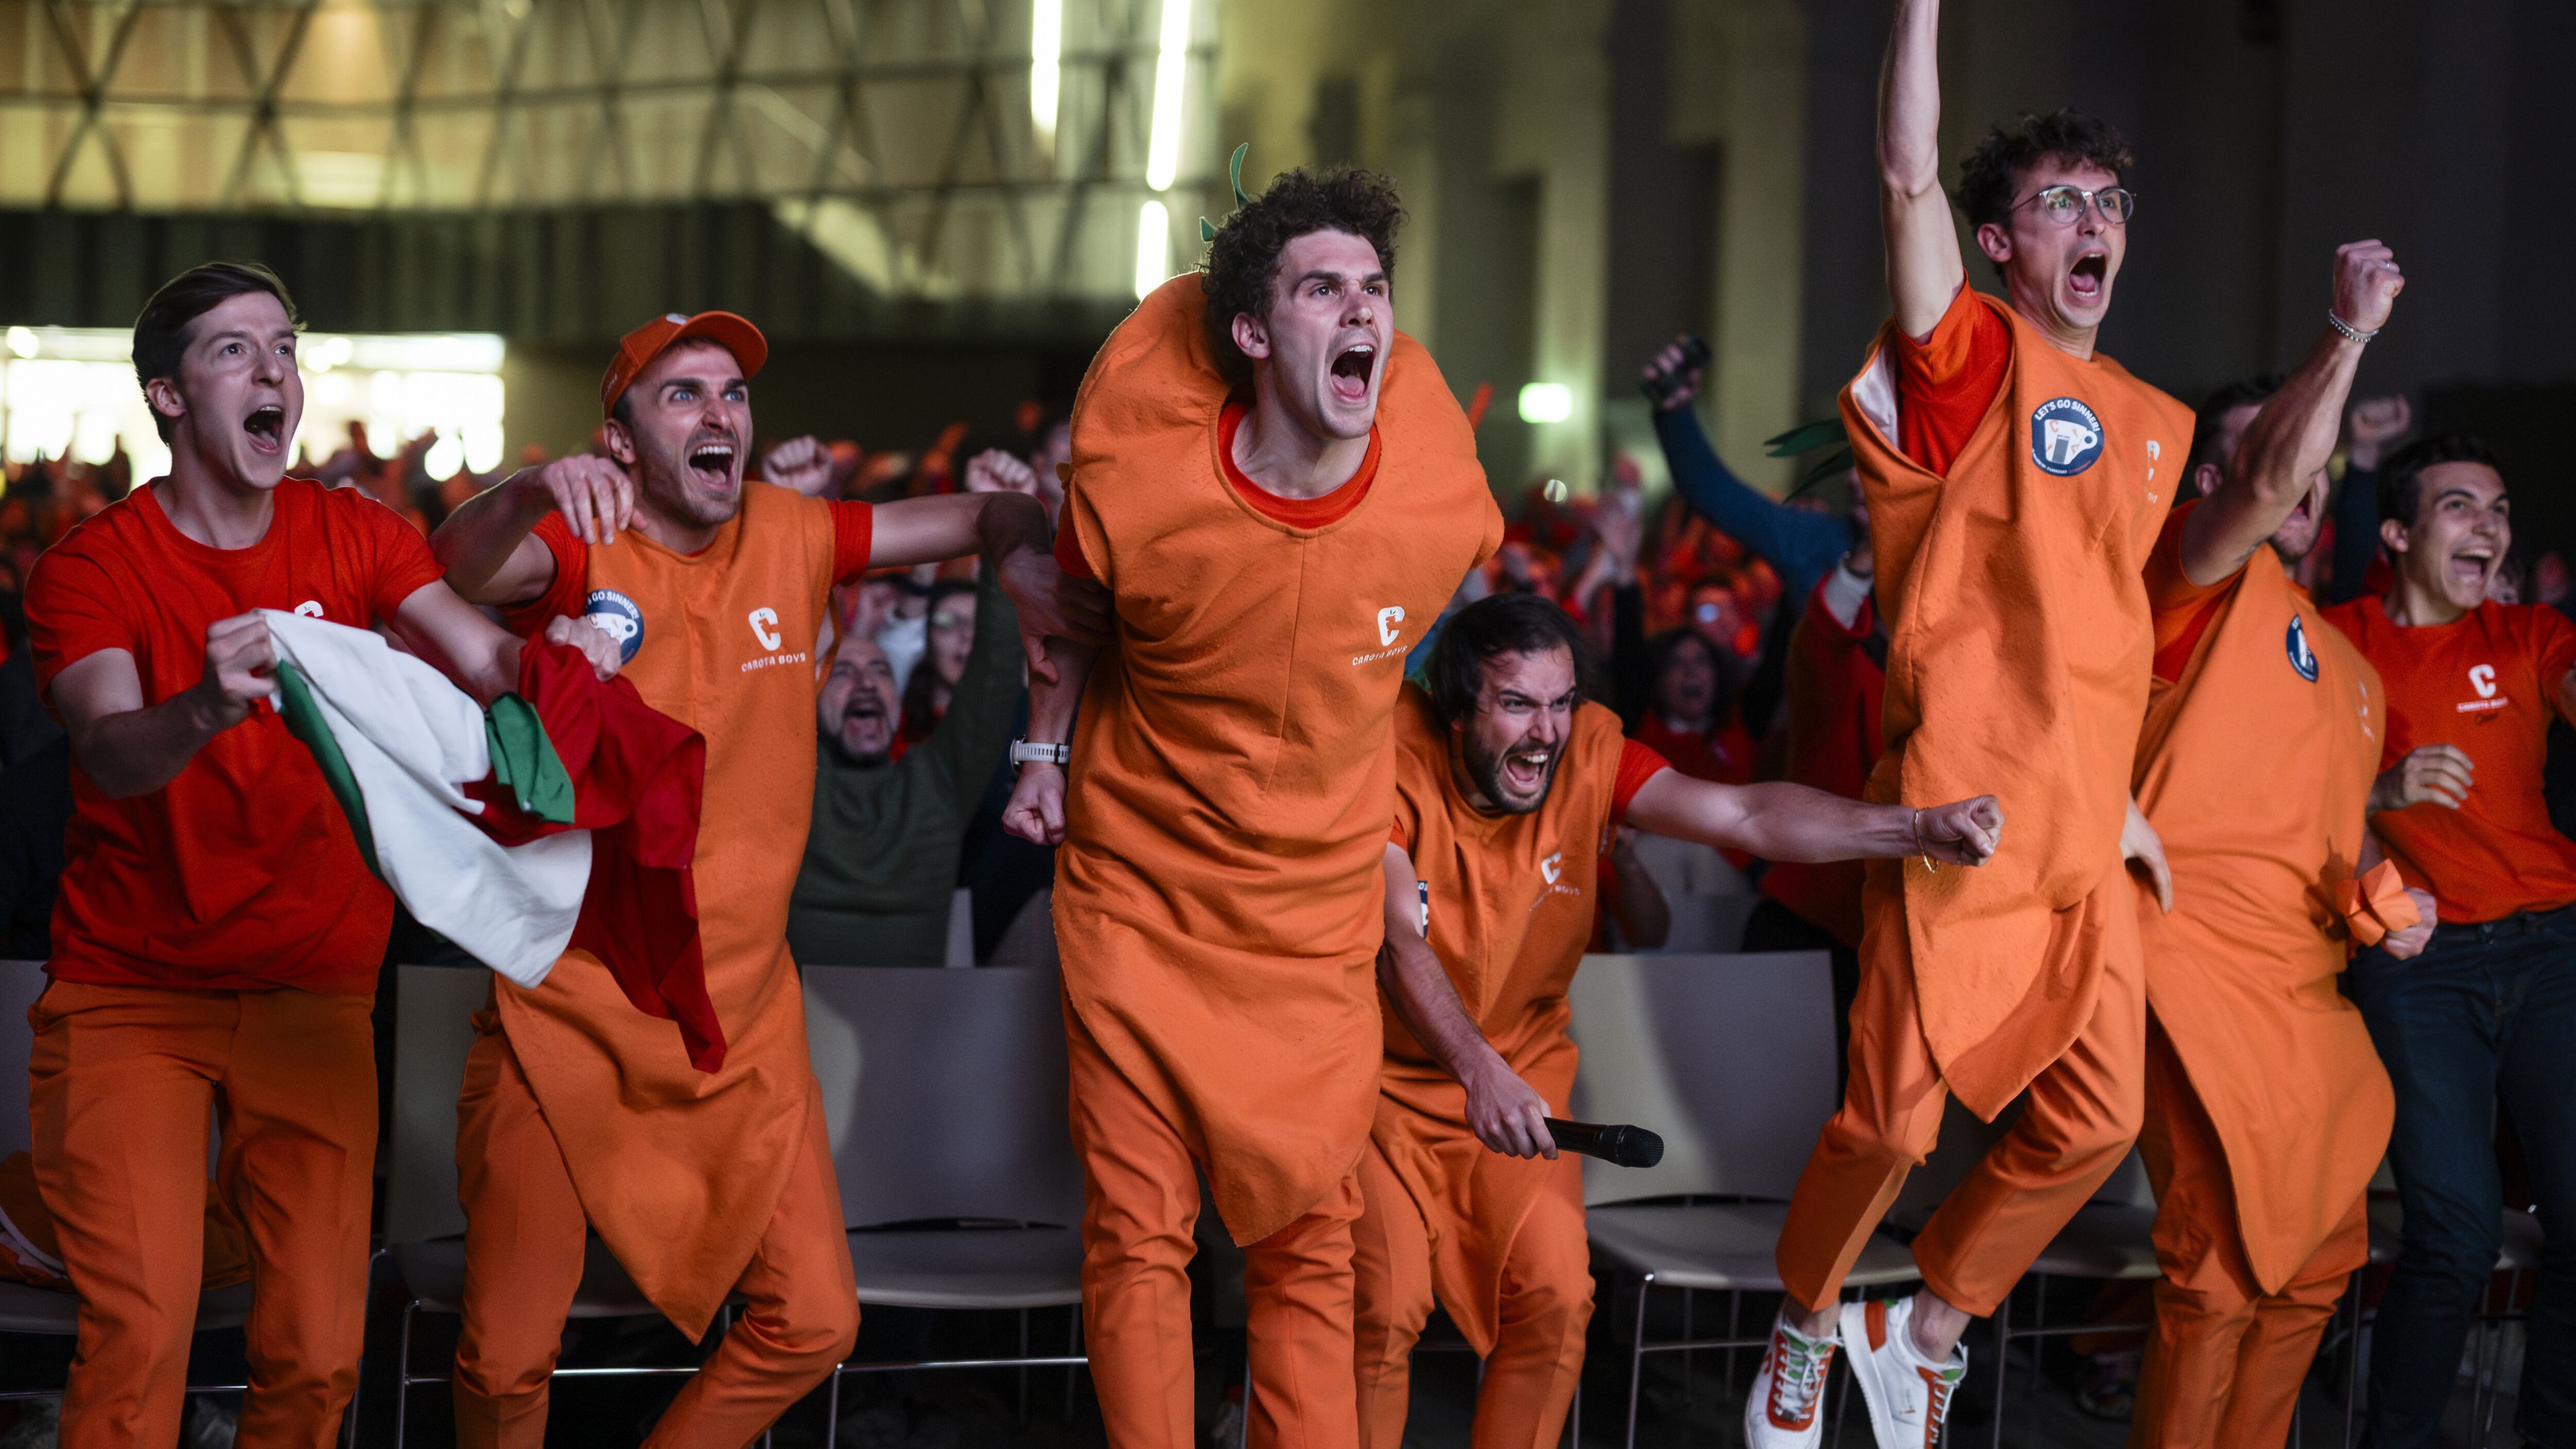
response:
[[(355, 628), (394, 618), (438, 582), (420, 533), (358, 489), (286, 479), (268, 538), (196, 543), (134, 489), (36, 561), (26, 628), (36, 685), (124, 649), (157, 705), (206, 677), (206, 625), (289, 610)], [(394, 896), (350, 836), (304, 744), (276, 710), (206, 741), (170, 785), (126, 800), (72, 762), (72, 826), (54, 901), (62, 981), (191, 991), (361, 993), (394, 924)]]

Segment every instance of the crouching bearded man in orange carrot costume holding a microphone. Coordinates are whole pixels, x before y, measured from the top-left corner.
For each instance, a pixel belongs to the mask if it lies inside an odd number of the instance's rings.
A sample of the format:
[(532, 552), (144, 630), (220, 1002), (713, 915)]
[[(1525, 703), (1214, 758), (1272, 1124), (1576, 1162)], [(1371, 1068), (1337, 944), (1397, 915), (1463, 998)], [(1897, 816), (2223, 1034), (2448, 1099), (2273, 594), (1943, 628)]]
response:
[(1929, 811), (1806, 785), (1716, 785), (1620, 739), (1582, 697), (1566, 610), (1494, 595), (1458, 610), (1430, 692), (1396, 708), (1396, 831), (1378, 981), (1386, 1076), (1360, 1158), (1360, 1444), (1404, 1441), (1406, 1364), (1432, 1302), (1484, 1356), (1479, 1449), (1556, 1444), (1592, 1318), (1582, 1171), (1546, 1117), (1574, 1091), (1566, 986), (1592, 934), (1600, 842), (1643, 831), (1765, 860), (1919, 854), (1978, 865), (1991, 798)]

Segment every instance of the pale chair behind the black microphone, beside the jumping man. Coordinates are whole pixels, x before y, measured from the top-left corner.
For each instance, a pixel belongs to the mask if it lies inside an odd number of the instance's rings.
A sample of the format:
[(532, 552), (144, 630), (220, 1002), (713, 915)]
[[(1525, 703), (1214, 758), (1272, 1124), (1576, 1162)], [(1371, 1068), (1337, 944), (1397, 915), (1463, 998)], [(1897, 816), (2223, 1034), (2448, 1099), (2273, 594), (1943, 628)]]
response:
[[(1569, 991), (1582, 1068), (1571, 1112), (1664, 1135), (1654, 1168), (1584, 1161), (1592, 1246), (1636, 1274), (1628, 1444), (1646, 1354), (1762, 1349), (1739, 1336), (1744, 1292), (1785, 1292), (1775, 1266), (1788, 1197), (1834, 1112), (1834, 988), (1824, 952), (1595, 955)], [(1685, 1202), (1638, 1202), (1685, 1197)], [(1726, 1197), (1736, 1202), (1690, 1202)], [(1911, 1282), (1914, 1256), (1873, 1238), (1850, 1287)], [(1685, 1289), (1685, 1336), (1646, 1341), (1646, 1295)], [(1698, 1338), (1687, 1292), (1728, 1295), (1728, 1336)], [(1613, 1289), (1615, 1302), (1615, 1289)]]

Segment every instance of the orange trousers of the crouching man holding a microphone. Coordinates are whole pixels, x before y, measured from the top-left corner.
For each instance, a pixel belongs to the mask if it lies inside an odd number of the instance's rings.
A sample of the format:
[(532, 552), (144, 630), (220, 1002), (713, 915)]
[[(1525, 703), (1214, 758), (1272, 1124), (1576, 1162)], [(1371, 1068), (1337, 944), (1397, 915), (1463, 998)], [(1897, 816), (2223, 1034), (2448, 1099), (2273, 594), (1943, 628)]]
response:
[[(1574, 1156), (1530, 1202), (1502, 1259), (1502, 1325), (1476, 1385), (1473, 1449), (1551, 1449), (1584, 1372), (1592, 1248)], [(1412, 1408), (1412, 1356), (1432, 1315), (1432, 1238), (1422, 1207), (1370, 1143), (1360, 1158), (1368, 1210), (1352, 1230), (1358, 1282), (1360, 1446), (1399, 1449)]]

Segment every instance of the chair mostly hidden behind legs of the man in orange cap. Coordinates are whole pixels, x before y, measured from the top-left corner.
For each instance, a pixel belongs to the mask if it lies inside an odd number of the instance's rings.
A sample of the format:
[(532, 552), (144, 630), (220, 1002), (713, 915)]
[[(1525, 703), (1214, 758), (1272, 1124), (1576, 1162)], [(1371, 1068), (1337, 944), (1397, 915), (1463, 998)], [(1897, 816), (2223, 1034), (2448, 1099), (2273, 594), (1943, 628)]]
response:
[[(410, 1428), (412, 1385), (443, 1385), (446, 1372), (412, 1369), (412, 1320), (464, 1313), (466, 1212), (456, 1199), (456, 1094), (464, 1089), (474, 1011), (492, 996), (492, 975), (448, 965), (404, 965), (394, 1019), (394, 1135), (386, 1143), (384, 1251), (402, 1274), (402, 1338), (394, 1359), (394, 1449)], [(724, 1325), (732, 1325), (729, 1302)], [(644, 1289), (626, 1277), (605, 1243), (590, 1238), (582, 1284), (567, 1318), (657, 1318)], [(675, 1367), (554, 1369), (556, 1380), (623, 1380), (696, 1374)], [(768, 1436), (762, 1436), (768, 1441)]]

